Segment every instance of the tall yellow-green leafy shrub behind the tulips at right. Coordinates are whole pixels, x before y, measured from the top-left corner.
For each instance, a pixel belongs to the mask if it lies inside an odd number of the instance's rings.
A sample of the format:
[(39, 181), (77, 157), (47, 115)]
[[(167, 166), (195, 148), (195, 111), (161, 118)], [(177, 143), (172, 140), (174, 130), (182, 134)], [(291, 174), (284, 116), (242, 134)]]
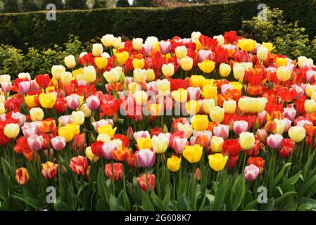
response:
[(283, 11), (279, 8), (268, 10), (267, 20), (259, 20), (254, 17), (251, 20), (243, 21), (241, 30), (241, 34), (256, 41), (272, 42), (276, 53), (290, 58), (312, 57), (309, 51), (310, 41), (308, 34), (305, 34), (305, 28), (299, 27), (298, 22), (287, 23)]

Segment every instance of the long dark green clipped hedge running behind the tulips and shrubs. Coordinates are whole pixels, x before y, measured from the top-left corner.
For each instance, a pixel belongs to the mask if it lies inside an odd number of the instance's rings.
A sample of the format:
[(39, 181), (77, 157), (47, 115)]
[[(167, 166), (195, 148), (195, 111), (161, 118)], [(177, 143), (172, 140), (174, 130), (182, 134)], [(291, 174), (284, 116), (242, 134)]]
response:
[(192, 31), (206, 35), (238, 30), (241, 21), (258, 14), (258, 4), (284, 10), (286, 20), (300, 20), (312, 37), (316, 35), (316, 0), (246, 0), (225, 4), (177, 8), (105, 8), (94, 11), (58, 11), (56, 21), (46, 20), (46, 12), (0, 14), (0, 44), (25, 49), (63, 44), (68, 34), (89, 41), (104, 34), (168, 39), (189, 37)]

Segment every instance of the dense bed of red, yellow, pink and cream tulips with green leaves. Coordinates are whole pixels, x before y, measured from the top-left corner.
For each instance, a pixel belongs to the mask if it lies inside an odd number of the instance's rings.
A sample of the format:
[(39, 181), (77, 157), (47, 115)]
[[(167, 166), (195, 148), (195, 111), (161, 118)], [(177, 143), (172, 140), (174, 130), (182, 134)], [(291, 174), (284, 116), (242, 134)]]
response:
[(311, 59), (234, 31), (101, 42), (0, 76), (1, 210), (315, 210)]

